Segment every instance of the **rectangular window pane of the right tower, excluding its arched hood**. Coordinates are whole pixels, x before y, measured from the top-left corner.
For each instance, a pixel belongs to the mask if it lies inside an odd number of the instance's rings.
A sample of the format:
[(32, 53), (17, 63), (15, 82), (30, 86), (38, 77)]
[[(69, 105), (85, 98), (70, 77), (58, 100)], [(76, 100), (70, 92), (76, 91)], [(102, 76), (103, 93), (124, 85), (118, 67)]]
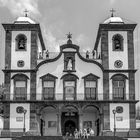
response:
[(124, 99), (124, 81), (113, 81), (114, 99)]

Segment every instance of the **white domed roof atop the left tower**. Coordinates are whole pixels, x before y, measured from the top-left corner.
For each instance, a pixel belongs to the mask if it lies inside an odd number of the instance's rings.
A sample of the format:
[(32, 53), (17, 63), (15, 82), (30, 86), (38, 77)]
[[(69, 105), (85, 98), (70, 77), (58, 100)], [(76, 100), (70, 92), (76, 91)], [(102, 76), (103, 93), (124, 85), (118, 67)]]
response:
[(15, 24), (36, 24), (35, 21), (33, 21), (31, 18), (29, 17), (18, 17), (15, 21)]

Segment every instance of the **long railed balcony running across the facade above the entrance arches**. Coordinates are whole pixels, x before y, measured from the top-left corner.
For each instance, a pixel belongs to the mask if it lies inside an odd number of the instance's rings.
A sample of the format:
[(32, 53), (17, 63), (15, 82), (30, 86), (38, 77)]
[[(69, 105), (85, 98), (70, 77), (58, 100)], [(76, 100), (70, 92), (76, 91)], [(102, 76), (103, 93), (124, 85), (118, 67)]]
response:
[(15, 95), (15, 94), (3, 94), (0, 96), (1, 101), (10, 101), (10, 102), (45, 102), (45, 101), (94, 101), (94, 102), (136, 102), (137, 99), (135, 98), (134, 94), (125, 94), (122, 95), (114, 95), (114, 94), (103, 94), (98, 93), (94, 96), (86, 96), (84, 93), (77, 93), (73, 95), (65, 95), (63, 93), (55, 93), (55, 94), (48, 94), (43, 95), (41, 93), (36, 93), (36, 99), (33, 99), (30, 94), (23, 94), (23, 95)]

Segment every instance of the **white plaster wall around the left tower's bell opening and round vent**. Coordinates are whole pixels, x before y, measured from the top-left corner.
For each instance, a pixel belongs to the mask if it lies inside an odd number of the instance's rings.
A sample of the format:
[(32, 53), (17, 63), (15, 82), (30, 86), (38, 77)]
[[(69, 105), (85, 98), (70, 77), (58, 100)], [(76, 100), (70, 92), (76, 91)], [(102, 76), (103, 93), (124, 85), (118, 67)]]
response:
[[(16, 51), (15, 38), (18, 34), (24, 34), (27, 37), (26, 51)], [(12, 69), (30, 69), (31, 55), (31, 31), (12, 31), (12, 46), (11, 46), (11, 68)], [(17, 61), (23, 60), (24, 67), (18, 67)]]

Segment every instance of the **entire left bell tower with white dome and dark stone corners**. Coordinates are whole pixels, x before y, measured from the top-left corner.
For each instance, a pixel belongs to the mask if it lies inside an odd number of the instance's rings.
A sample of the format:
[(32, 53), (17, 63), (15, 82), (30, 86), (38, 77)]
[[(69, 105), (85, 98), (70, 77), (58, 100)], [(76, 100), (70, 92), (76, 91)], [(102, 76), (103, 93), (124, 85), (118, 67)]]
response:
[[(14, 23), (2, 24), (5, 29), (4, 83), (7, 89), (4, 97), (4, 128), (22, 128), (23, 114), (17, 108), (26, 110), (26, 118), (32, 118), (32, 104), (36, 100), (36, 66), (38, 53), (45, 50), (40, 25), (27, 16), (18, 17)], [(20, 106), (19, 103), (20, 102)], [(31, 111), (30, 111), (31, 110)], [(31, 121), (26, 119), (26, 130)], [(25, 129), (24, 129), (25, 130)]]

